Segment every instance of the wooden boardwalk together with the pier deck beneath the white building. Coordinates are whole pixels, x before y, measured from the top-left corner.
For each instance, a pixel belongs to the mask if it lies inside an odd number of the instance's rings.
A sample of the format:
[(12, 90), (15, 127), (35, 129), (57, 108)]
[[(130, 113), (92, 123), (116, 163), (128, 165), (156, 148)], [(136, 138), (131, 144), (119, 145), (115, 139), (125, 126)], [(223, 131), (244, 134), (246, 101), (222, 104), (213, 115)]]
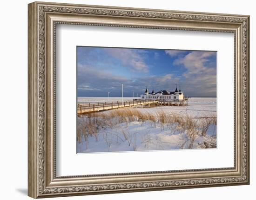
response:
[(115, 101), (115, 102), (103, 102), (103, 103), (78, 103), (77, 104), (77, 113), (86, 114), (90, 112), (97, 112), (103, 110), (111, 110), (118, 108), (127, 108), (127, 107), (155, 107), (155, 106), (184, 106), (188, 105), (188, 98), (184, 100), (173, 100), (173, 101), (164, 101), (164, 100), (133, 100), (133, 101)]

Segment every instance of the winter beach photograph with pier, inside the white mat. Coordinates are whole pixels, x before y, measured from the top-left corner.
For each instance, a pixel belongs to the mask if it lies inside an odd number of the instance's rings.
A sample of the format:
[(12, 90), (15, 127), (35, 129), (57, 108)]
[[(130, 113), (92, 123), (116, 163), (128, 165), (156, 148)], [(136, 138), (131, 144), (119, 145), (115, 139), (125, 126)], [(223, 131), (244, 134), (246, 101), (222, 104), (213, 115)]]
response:
[(217, 148), (217, 52), (76, 53), (77, 153)]

